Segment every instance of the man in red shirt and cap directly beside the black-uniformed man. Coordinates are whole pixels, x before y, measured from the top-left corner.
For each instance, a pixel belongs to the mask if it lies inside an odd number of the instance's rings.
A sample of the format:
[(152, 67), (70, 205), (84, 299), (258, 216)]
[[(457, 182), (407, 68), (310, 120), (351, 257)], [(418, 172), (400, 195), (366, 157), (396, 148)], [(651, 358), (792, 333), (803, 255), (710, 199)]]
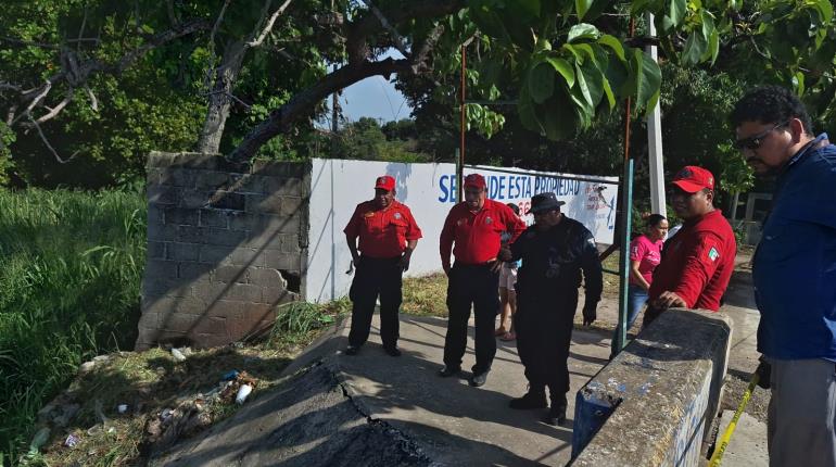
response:
[[(476, 315), (476, 365), (471, 386), (482, 386), (487, 379), (496, 340), (494, 324), (499, 313), (499, 267), (496, 260), (502, 234), (510, 234), (510, 242), (525, 230), (523, 223), (503, 203), (486, 199), (485, 180), (479, 174), (465, 177), (465, 201), (449, 210), (441, 230), (441, 265), (447, 282), (447, 336), (444, 340), (444, 368), (439, 375), (448, 377), (461, 369), (467, 344), (467, 321), (470, 306)], [(454, 247), (455, 244), (455, 247)], [(456, 256), (451, 267), (449, 254)]]

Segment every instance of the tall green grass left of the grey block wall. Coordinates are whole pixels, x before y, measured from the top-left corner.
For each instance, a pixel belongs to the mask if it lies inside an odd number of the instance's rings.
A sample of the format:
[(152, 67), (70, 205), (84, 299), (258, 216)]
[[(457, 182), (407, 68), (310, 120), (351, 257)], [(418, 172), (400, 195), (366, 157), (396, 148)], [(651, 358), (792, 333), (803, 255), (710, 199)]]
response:
[[(99, 353), (132, 348), (144, 267), (138, 192), (0, 190), (0, 454)], [(0, 457), (3, 457), (0, 455)]]

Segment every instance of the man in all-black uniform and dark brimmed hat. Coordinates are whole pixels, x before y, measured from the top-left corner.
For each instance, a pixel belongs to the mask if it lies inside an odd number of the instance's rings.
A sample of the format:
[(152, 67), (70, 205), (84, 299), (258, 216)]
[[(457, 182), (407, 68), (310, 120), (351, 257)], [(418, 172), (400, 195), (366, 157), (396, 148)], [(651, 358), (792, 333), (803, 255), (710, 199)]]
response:
[(525, 367), (529, 391), (510, 401), (517, 409), (545, 408), (546, 387), (552, 406), (544, 419), (549, 425), (566, 421), (569, 391), (569, 345), (581, 272), (585, 283), (583, 324), (596, 318), (604, 288), (598, 250), (592, 232), (560, 212), (563, 201), (555, 193), (531, 199), (534, 225), (501, 253), (503, 261), (522, 260), (517, 275), (517, 352)]

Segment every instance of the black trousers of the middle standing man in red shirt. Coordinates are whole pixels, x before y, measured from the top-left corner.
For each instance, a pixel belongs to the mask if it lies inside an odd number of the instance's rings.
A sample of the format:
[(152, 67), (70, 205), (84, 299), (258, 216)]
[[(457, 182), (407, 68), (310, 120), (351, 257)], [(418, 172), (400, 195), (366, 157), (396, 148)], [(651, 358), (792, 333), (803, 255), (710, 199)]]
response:
[(499, 313), (499, 273), (492, 273), (486, 265), (456, 263), (447, 281), (449, 317), (444, 339), (444, 365), (447, 367), (461, 366), (471, 304), (476, 315), (476, 365), (472, 371), (479, 375), (491, 369), (496, 355), (494, 324)]

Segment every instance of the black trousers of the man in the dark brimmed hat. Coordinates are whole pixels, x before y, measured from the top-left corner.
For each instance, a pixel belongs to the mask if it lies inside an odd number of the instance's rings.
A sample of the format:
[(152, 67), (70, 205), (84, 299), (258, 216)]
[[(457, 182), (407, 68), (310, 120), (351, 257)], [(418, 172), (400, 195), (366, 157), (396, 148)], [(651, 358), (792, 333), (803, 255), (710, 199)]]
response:
[(514, 329), (525, 379), (534, 389), (548, 387), (552, 403), (569, 392), (569, 345), (578, 289), (523, 289), (517, 293)]

